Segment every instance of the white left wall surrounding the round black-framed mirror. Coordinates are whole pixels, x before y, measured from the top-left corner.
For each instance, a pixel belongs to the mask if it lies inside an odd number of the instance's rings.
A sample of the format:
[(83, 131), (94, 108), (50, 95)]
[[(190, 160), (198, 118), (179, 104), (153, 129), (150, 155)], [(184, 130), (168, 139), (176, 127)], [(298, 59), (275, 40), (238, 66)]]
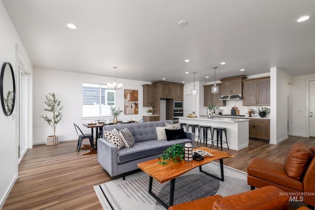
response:
[[(23, 55), (28, 65), (31, 65), (25, 53), (21, 40), (8, 16), (5, 7), (0, 1), (0, 65), (10, 62), (16, 77), (16, 44), (19, 46), (20, 54)], [(16, 90), (19, 84), (16, 83)], [(18, 100), (19, 98), (16, 98)], [(16, 114), (14, 108), (13, 115)], [(0, 209), (2, 208), (7, 195), (9, 194), (15, 180), (18, 177), (18, 146), (16, 138), (18, 121), (13, 116), (6, 117), (0, 107)]]

